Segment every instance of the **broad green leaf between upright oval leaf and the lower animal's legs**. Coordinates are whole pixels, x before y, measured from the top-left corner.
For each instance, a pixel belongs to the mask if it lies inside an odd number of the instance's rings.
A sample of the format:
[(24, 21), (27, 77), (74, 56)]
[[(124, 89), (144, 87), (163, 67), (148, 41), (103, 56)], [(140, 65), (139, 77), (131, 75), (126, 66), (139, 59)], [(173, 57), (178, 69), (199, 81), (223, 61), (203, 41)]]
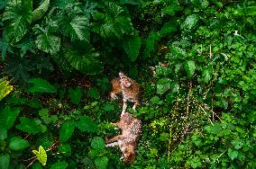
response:
[(97, 130), (96, 123), (87, 116), (81, 116), (80, 120), (76, 123), (76, 126), (78, 129), (87, 132), (96, 132)]

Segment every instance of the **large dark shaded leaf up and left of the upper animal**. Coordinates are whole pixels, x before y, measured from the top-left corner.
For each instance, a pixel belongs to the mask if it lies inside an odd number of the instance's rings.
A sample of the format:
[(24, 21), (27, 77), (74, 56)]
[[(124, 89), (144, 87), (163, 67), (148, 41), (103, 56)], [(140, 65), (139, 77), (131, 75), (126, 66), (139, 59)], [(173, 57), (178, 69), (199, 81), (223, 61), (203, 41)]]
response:
[(87, 48), (87, 53), (79, 53), (74, 49), (69, 49), (65, 52), (64, 57), (69, 60), (69, 64), (78, 71), (88, 74), (96, 75), (102, 72), (102, 63), (98, 59), (98, 53), (95, 49)]

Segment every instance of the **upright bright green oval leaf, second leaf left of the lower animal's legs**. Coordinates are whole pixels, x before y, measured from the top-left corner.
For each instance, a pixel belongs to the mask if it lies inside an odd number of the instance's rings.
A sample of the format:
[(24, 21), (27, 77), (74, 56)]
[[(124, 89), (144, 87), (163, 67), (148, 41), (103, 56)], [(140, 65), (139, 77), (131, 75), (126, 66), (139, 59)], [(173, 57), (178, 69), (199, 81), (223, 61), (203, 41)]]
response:
[(75, 125), (76, 123), (73, 120), (69, 120), (61, 125), (61, 129), (59, 130), (60, 143), (64, 143), (69, 140), (74, 132)]

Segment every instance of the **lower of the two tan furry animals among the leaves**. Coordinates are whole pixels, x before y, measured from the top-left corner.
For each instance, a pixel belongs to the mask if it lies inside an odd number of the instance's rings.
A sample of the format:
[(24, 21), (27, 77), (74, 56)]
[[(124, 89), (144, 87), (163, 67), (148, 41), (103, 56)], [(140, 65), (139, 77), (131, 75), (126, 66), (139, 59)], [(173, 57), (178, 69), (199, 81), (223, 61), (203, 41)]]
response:
[(123, 162), (129, 164), (135, 158), (135, 149), (142, 132), (142, 121), (134, 118), (129, 112), (124, 112), (120, 121), (114, 123), (114, 126), (122, 129), (122, 134), (114, 138), (106, 138), (105, 147), (120, 147)]

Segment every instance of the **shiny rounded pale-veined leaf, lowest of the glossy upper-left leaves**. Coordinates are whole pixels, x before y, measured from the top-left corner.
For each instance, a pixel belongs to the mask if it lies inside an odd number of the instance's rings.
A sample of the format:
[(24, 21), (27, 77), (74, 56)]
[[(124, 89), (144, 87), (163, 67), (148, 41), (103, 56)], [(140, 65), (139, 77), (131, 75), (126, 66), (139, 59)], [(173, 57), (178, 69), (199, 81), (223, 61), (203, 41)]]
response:
[(60, 38), (49, 33), (41, 33), (35, 40), (38, 49), (51, 55), (56, 54), (60, 49)]

